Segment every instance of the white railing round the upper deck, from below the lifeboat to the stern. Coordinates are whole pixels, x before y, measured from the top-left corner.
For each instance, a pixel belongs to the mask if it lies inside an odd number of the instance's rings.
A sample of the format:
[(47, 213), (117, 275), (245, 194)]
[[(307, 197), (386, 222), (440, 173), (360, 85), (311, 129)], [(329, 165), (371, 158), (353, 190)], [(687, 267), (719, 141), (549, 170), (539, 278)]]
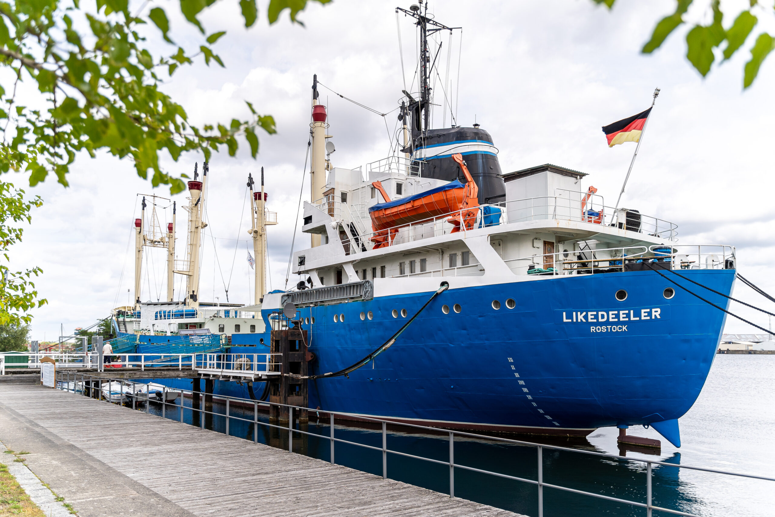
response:
[[(460, 209), (409, 224), (364, 233), (362, 236), (363, 244), (367, 250), (373, 250), (377, 247), (396, 246), (443, 236), (452, 233), (456, 227), (450, 222), (451, 220), (463, 221), (460, 224), (460, 232), (463, 233), (514, 222), (557, 219), (615, 226), (618, 229), (646, 233), (649, 236), (660, 237), (670, 242), (677, 240), (678, 226), (673, 222), (656, 219), (632, 210), (615, 211), (605, 206), (597, 206), (592, 209), (593, 206), (582, 205), (580, 200), (563, 196), (525, 198), (501, 202), (497, 205), (479, 205), (473, 209)], [(639, 218), (637, 221), (636, 217)]]

